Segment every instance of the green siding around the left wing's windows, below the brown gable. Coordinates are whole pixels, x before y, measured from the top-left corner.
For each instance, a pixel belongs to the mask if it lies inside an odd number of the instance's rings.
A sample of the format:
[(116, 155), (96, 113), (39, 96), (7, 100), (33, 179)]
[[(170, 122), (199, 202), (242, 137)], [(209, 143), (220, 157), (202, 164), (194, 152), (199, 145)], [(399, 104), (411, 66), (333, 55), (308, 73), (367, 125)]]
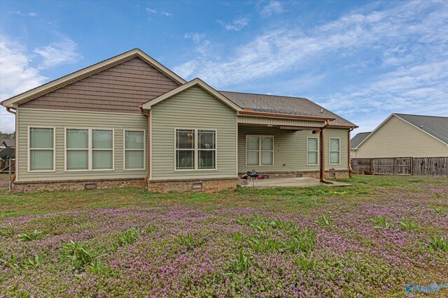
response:
[[(146, 170), (123, 170), (123, 129), (142, 129), (148, 140), (148, 120), (144, 115), (58, 110), (18, 109), (18, 181), (144, 178)], [(54, 126), (56, 172), (27, 172), (28, 127)], [(112, 128), (115, 134), (115, 170), (64, 172), (64, 128)], [(146, 163), (148, 161), (146, 141)], [(147, 166), (146, 166), (147, 167)]]

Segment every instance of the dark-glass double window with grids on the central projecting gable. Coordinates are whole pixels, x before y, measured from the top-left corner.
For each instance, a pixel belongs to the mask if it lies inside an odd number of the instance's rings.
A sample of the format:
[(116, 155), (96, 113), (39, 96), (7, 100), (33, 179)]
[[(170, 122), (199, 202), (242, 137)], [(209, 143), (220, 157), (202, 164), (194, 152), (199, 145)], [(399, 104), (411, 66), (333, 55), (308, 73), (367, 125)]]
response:
[(216, 131), (176, 129), (176, 170), (216, 170)]

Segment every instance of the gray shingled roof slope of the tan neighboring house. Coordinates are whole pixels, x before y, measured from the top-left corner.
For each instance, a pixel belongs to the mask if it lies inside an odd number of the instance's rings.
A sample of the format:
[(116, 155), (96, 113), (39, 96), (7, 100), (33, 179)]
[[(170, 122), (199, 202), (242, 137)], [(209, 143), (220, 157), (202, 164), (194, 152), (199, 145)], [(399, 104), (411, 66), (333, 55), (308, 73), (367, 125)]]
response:
[(448, 117), (394, 114), (448, 144)]

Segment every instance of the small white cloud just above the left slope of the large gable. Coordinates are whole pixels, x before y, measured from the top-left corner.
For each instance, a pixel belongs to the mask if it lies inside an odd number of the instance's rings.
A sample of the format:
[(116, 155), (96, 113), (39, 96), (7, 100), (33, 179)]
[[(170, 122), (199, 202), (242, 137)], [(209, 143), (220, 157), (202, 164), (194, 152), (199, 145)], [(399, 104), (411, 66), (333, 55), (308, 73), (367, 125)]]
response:
[(41, 58), (39, 69), (50, 68), (62, 64), (72, 64), (78, 62), (83, 57), (77, 52), (78, 45), (68, 37), (62, 38), (57, 43), (51, 43), (43, 47), (36, 47), (34, 53)]

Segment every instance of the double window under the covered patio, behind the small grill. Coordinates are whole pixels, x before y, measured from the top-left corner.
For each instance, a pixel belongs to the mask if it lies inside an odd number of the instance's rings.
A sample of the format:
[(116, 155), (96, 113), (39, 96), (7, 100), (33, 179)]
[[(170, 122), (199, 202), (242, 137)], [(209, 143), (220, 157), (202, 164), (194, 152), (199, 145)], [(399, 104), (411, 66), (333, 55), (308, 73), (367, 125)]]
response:
[(272, 135), (246, 136), (246, 165), (273, 165), (274, 137)]

